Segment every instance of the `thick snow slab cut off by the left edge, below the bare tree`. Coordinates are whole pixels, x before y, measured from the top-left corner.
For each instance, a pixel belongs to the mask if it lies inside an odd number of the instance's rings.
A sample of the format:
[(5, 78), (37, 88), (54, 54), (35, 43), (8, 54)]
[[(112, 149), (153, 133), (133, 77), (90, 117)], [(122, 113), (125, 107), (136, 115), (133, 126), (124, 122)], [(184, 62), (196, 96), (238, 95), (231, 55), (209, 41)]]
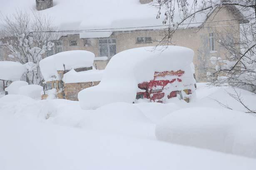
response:
[(26, 68), (24, 65), (13, 61), (0, 61), (0, 79), (1, 80), (20, 80)]

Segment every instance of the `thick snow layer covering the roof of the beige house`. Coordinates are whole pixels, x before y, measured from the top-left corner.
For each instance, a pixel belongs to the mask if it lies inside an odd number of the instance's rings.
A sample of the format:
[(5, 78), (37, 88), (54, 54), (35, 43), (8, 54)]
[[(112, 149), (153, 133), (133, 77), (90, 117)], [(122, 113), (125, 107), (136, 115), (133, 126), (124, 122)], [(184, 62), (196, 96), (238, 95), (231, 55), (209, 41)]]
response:
[[(192, 4), (194, 0), (189, 1)], [(164, 11), (161, 18), (156, 19), (158, 8), (152, 6), (154, 2), (149, 4), (140, 4), (139, 0), (53, 0), (53, 2), (53, 7), (37, 12), (49, 16), (59, 30), (163, 26)], [(0, 5), (2, 14), (11, 15), (17, 9), (30, 12), (32, 15), (31, 10), (35, 10), (35, 0), (8, 0)], [(174, 22), (180, 21), (180, 18), (180, 13), (177, 11)], [(206, 14), (198, 13), (192, 22), (203, 22), (204, 19), (206, 19)], [(184, 27), (199, 25), (190, 24), (184, 25)], [(80, 33), (80, 37), (109, 37), (111, 34), (112, 30), (109, 32), (84, 32)]]

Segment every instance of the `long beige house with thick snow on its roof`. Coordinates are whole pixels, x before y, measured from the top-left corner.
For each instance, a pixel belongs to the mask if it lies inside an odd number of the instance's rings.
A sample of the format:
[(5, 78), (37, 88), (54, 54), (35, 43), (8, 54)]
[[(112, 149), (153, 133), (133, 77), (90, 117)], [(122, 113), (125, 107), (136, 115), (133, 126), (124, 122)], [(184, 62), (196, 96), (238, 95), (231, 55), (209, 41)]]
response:
[[(8, 4), (12, 9), (3, 5), (3, 12), (8, 14), (15, 6), (27, 10), (35, 8), (35, 3), (31, 4), (29, 0), (15, 1), (12, 6)], [(40, 6), (36, 4), (37, 10), (40, 10), (38, 12), (52, 17), (58, 30), (68, 30), (62, 32), (60, 39), (55, 41), (55, 47), (47, 51), (47, 56), (70, 50), (91, 51), (96, 58), (105, 58), (94, 61), (95, 68), (104, 69), (116, 53), (159, 45), (167, 26), (162, 24), (162, 18), (156, 19), (158, 9), (152, 7), (152, 1), (40, 1)], [(206, 13), (198, 13), (195, 18), (184, 22), (171, 40), (172, 45), (188, 47), (194, 51), (193, 63), (196, 80), (199, 82), (206, 80), (206, 68), (211, 66), (212, 56), (225, 58), (229, 55), (219, 43), (218, 34), (239, 41), (240, 24), (248, 22), (246, 16), (232, 5), (216, 9), (209, 15)], [(7, 56), (4, 58), (8, 60)]]

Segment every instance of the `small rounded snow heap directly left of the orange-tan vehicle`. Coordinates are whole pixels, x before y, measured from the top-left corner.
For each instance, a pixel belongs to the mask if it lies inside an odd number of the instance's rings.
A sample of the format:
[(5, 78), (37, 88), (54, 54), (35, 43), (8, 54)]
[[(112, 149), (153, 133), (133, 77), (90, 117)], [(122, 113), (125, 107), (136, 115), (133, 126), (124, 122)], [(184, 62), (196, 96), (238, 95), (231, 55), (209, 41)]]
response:
[(18, 94), (40, 100), (42, 91), (43, 87), (40, 85), (25, 85), (19, 88)]

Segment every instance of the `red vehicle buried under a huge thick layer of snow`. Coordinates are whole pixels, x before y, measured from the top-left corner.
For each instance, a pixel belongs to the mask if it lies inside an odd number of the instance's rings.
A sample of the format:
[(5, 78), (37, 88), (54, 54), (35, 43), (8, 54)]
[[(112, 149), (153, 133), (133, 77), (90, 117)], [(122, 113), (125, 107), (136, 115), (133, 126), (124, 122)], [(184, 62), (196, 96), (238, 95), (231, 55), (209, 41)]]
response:
[(189, 102), (195, 93), (191, 64), (194, 51), (181, 46), (129, 49), (111, 58), (99, 85), (78, 94), (83, 109), (113, 102)]

